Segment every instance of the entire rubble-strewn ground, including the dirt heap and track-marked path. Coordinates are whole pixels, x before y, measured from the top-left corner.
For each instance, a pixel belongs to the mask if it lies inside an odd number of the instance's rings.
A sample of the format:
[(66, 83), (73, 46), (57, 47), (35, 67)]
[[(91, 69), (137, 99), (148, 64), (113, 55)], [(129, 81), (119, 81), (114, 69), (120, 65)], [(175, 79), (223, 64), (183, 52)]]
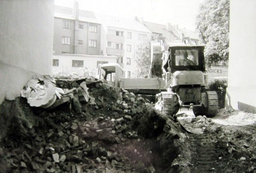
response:
[(51, 110), (4, 101), (0, 173), (256, 173), (255, 114), (182, 109), (172, 118), (126, 90), (87, 87), (90, 102), (74, 96)]

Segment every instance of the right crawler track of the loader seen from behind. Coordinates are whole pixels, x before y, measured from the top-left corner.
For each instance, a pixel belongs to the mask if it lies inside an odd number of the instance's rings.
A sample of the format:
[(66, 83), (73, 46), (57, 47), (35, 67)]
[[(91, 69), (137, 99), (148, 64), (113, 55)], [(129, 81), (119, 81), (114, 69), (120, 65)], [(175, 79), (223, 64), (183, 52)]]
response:
[(202, 106), (194, 107), (195, 116), (205, 115), (214, 117), (218, 113), (218, 96), (216, 91), (206, 91), (202, 93)]

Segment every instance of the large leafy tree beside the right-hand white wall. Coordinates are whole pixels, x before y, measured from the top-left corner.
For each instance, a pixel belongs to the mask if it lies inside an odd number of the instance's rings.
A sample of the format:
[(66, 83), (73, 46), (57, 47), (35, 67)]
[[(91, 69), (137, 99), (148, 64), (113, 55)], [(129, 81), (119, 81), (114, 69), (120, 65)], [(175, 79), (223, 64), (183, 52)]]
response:
[(228, 61), (229, 0), (205, 0), (196, 21), (197, 30), (205, 43), (206, 64)]

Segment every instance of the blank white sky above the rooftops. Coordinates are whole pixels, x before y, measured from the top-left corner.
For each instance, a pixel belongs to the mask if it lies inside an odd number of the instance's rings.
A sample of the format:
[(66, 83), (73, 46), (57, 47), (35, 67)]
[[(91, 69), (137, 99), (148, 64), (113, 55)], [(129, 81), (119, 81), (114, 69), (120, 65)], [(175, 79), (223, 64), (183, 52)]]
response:
[[(132, 18), (195, 29), (199, 5), (204, 0), (77, 0), (79, 8), (101, 14)], [(74, 0), (55, 0), (56, 5), (73, 6)]]

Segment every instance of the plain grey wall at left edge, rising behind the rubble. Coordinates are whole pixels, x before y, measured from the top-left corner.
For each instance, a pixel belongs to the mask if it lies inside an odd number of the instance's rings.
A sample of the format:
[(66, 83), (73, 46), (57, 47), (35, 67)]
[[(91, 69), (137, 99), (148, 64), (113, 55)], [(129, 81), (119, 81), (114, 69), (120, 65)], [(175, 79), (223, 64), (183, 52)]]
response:
[(50, 74), (53, 0), (0, 0), (0, 103), (34, 74)]

